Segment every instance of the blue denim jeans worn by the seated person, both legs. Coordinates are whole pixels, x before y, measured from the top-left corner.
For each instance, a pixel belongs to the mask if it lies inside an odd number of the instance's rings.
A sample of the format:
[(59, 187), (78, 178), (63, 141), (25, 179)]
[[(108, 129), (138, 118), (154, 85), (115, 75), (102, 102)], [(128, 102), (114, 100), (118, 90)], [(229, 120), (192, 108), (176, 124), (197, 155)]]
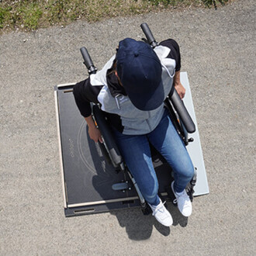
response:
[(114, 130), (116, 144), (135, 178), (144, 199), (156, 206), (157, 175), (151, 160), (150, 144), (166, 159), (175, 175), (175, 192), (182, 192), (194, 175), (194, 167), (188, 151), (165, 111), (158, 126), (144, 135), (125, 135)]

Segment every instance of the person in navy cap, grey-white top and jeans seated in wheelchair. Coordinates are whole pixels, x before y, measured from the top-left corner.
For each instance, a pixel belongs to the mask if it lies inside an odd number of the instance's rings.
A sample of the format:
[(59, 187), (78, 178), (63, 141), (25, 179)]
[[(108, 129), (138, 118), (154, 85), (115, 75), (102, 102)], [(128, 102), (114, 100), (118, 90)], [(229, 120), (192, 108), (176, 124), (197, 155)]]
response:
[(185, 95), (180, 68), (180, 51), (175, 40), (164, 40), (152, 49), (143, 41), (126, 38), (119, 42), (116, 54), (101, 71), (74, 85), (74, 99), (88, 124), (89, 136), (102, 143), (92, 119), (90, 102), (94, 102), (106, 112), (120, 153), (153, 215), (167, 227), (173, 220), (157, 195), (150, 144), (174, 171), (175, 180), (170, 186), (178, 209), (183, 216), (192, 214), (185, 187), (194, 175), (194, 167), (164, 108), (164, 99), (172, 86), (181, 98)]

